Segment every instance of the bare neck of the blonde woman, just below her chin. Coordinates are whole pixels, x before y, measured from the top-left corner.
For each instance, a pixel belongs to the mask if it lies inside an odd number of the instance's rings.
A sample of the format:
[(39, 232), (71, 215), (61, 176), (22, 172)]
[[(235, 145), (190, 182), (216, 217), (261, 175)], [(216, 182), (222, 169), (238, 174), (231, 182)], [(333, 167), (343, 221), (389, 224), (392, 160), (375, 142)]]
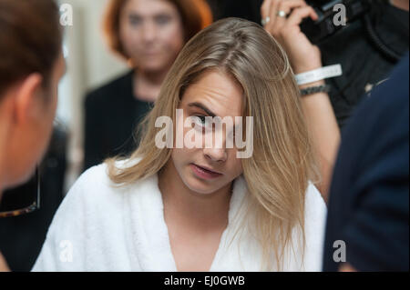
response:
[(210, 195), (201, 195), (188, 188), (172, 161), (159, 174), (159, 190), (164, 203), (165, 220), (191, 228), (213, 231), (228, 225), (231, 185)]

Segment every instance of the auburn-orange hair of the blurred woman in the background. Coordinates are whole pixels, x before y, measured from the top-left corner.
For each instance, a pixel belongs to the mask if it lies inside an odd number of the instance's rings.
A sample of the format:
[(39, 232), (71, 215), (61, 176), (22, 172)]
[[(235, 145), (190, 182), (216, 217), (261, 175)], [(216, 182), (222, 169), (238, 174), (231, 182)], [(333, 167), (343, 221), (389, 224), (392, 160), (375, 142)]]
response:
[[(205, 0), (167, 0), (175, 5), (179, 11), (184, 28), (185, 41), (212, 23), (212, 12)], [(128, 60), (129, 56), (119, 39), (119, 18), (128, 0), (111, 0), (104, 18), (104, 32), (108, 38), (109, 47)]]

